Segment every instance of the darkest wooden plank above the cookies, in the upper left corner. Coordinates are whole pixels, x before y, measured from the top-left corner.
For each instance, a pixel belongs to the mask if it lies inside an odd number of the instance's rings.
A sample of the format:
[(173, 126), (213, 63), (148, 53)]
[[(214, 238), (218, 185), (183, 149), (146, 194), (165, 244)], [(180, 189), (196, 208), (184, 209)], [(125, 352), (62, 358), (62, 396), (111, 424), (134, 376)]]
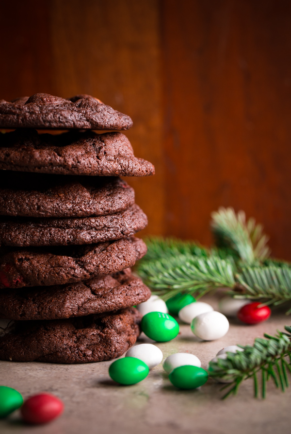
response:
[(0, 99), (51, 89), (49, 2), (0, 2)]

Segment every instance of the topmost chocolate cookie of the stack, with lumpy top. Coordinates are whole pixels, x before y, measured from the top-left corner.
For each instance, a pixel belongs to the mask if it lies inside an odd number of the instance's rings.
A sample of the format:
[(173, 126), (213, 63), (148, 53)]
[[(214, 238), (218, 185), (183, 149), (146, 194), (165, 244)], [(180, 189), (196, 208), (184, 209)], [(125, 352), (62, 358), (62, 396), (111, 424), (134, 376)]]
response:
[(0, 100), (0, 128), (128, 130), (131, 126), (129, 116), (90, 95), (64, 99), (35, 93), (11, 102)]

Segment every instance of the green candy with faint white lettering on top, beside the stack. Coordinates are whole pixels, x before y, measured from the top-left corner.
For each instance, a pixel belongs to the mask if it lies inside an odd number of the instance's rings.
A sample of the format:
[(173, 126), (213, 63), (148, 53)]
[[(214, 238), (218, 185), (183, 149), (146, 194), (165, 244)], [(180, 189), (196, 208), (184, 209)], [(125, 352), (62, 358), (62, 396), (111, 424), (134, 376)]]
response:
[(179, 332), (176, 319), (163, 312), (147, 313), (143, 316), (141, 327), (147, 337), (157, 342), (171, 341)]

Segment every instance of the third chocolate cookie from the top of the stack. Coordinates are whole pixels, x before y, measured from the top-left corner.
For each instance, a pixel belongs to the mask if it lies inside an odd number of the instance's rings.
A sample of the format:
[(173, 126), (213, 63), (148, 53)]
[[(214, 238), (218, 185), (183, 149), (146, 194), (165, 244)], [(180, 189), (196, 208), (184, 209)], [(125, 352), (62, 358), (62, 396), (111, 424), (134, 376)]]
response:
[(0, 171), (0, 215), (88, 217), (134, 204), (134, 190), (118, 177)]

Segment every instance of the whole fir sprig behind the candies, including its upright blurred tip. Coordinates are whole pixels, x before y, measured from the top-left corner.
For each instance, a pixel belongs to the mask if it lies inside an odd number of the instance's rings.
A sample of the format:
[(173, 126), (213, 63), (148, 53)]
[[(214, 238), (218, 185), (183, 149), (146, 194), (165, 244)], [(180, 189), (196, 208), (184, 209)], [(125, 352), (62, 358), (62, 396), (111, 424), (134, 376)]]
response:
[(217, 245), (175, 238), (146, 240), (148, 253), (138, 272), (155, 294), (164, 299), (179, 292), (199, 298), (212, 289), (226, 287), (237, 297), (268, 304), (288, 304), (291, 312), (291, 264), (267, 258), (267, 236), (243, 211), (220, 208), (212, 214), (211, 229)]

